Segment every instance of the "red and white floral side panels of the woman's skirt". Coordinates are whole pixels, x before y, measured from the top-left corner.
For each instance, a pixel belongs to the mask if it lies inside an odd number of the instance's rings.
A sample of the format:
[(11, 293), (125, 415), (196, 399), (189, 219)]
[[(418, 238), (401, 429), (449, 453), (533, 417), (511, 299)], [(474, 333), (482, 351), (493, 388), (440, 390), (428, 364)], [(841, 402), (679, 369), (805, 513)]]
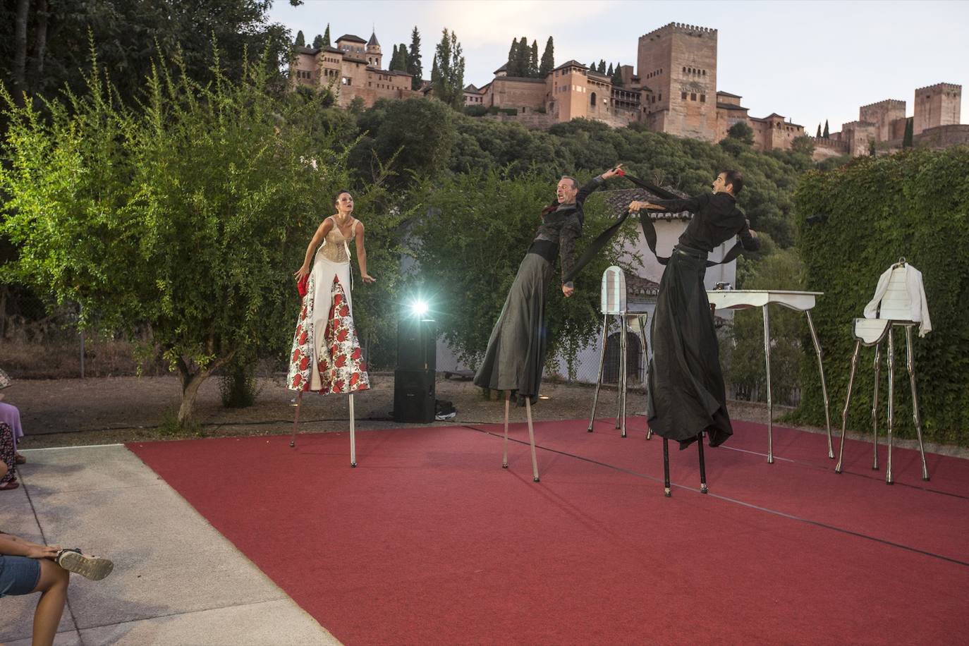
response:
[[(313, 278), (310, 276), (306, 295), (303, 296), (299, 312), (297, 332), (293, 338), (293, 354), (290, 356), (290, 370), (287, 383), (291, 390), (309, 390), (312, 378), (314, 335), (313, 329)], [(333, 276), (331, 292), (332, 303), (324, 330), (323, 351), (317, 357), (320, 372), (321, 394), (350, 393), (370, 387), (366, 372), (366, 362), (360, 350), (357, 329), (350, 314), (343, 286)]]

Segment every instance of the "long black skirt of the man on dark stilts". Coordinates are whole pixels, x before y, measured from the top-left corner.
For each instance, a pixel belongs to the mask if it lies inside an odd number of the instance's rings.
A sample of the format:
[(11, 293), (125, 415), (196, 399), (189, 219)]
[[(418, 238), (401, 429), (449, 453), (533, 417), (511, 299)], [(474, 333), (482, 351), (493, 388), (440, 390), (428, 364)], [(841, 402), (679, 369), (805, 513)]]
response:
[(679, 441), (681, 448), (701, 431), (710, 446), (734, 434), (705, 273), (704, 260), (674, 250), (660, 281), (651, 327), (646, 418), (654, 433)]

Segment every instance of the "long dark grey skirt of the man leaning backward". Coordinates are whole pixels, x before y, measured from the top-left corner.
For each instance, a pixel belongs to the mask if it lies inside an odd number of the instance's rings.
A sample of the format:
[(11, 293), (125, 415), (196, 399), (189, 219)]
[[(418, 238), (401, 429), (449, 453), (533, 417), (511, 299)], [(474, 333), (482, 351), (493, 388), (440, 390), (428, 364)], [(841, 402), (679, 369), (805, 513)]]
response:
[(533, 402), (542, 385), (547, 349), (546, 288), (552, 266), (538, 254), (526, 254), (508, 292), (501, 316), (491, 330), (475, 385), (517, 390)]

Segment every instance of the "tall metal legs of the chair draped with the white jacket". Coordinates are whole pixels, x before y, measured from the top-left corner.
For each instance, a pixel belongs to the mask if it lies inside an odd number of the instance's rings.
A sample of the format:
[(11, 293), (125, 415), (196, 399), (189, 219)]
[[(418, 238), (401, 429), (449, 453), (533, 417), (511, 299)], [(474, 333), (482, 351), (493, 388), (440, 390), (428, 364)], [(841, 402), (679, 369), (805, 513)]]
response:
[[(889, 457), (886, 463), (886, 474), (885, 482), (887, 484), (892, 484), (894, 482), (891, 474), (891, 449), (892, 449), (892, 432), (894, 431), (894, 381), (895, 381), (895, 357), (894, 357), (894, 338), (892, 335), (892, 327), (900, 324), (905, 327), (905, 345), (906, 345), (906, 364), (909, 373), (909, 385), (912, 390), (912, 420), (915, 422), (915, 432), (916, 436), (919, 438), (919, 455), (922, 457), (922, 479), (928, 480), (928, 466), (925, 464), (925, 449), (922, 446), (922, 417), (919, 415), (919, 395), (916, 390), (915, 385), (915, 355), (912, 351), (912, 325), (914, 323), (888, 323), (888, 328), (886, 330), (885, 336), (888, 337), (888, 356), (886, 357), (889, 364), (889, 408), (888, 408), (888, 424), (886, 429), (886, 435), (888, 436), (889, 442)], [(882, 346), (881, 342), (884, 337), (880, 338), (875, 342), (875, 392), (872, 396), (871, 405), (871, 430), (873, 439), (873, 449), (874, 455), (872, 458), (871, 468), (878, 470), (878, 390), (879, 390), (879, 373), (881, 370), (882, 363)], [(867, 345), (867, 344), (866, 344)], [(851, 394), (852, 386), (855, 385), (855, 370), (858, 367), (858, 356), (861, 350), (861, 341), (859, 340), (855, 344), (855, 353), (852, 354), (851, 359), (851, 374), (848, 377), (848, 394), (845, 397), (845, 408), (841, 413), (841, 446), (838, 447), (838, 462), (834, 466), (834, 473), (840, 474), (842, 472), (842, 465), (844, 462), (844, 450), (845, 450), (845, 429), (848, 426), (848, 409), (851, 406)]]

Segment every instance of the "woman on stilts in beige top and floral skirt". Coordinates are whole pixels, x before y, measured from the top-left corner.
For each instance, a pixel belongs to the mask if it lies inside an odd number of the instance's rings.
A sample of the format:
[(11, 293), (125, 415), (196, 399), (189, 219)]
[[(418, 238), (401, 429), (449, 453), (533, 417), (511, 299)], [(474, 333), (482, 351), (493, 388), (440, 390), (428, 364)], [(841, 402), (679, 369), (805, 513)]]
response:
[(290, 446), (296, 446), (299, 404), (303, 392), (349, 394), (350, 463), (356, 467), (353, 393), (369, 388), (370, 379), (354, 325), (351, 242), (357, 247), (363, 282), (374, 283), (376, 279), (366, 271), (364, 228), (363, 223), (353, 216), (353, 196), (349, 191), (341, 191), (334, 200), (334, 207), (336, 213), (317, 228), (306, 248), (305, 261), (295, 274), (302, 307), (287, 377), (288, 387), (298, 392)]

